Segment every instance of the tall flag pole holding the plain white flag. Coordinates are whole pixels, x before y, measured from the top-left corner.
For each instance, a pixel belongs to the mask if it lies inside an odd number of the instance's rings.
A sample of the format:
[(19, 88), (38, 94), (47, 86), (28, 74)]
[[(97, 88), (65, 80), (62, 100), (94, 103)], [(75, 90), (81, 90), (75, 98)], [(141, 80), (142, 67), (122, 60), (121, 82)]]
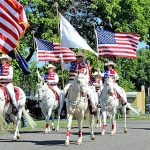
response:
[(65, 84), (64, 84), (64, 73), (63, 73), (63, 56), (62, 56), (62, 52), (61, 52), (61, 33), (60, 33), (60, 16), (59, 16), (59, 12), (58, 12), (58, 3), (56, 2), (54, 4), (54, 6), (56, 7), (56, 11), (57, 11), (57, 20), (58, 20), (58, 23), (57, 23), (57, 28), (58, 28), (58, 35), (59, 35), (59, 43), (60, 43), (60, 65), (61, 65), (61, 75), (62, 75), (62, 85), (63, 85), (63, 89), (65, 87)]

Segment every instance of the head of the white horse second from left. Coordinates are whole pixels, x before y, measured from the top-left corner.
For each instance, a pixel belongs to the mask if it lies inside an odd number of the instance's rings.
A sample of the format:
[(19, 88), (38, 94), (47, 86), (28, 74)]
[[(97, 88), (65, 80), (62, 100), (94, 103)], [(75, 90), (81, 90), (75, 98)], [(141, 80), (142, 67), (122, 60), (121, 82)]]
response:
[(37, 83), (37, 94), (38, 94), (38, 99), (42, 100), (44, 99), (46, 93), (47, 93), (47, 85), (45, 82), (41, 81), (40, 83)]

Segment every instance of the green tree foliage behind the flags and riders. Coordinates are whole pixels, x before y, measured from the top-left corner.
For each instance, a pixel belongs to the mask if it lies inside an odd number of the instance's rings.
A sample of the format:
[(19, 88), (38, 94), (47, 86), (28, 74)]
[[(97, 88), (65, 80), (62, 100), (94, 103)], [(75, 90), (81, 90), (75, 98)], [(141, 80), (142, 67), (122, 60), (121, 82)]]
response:
[[(34, 50), (33, 33), (37, 38), (59, 42), (59, 30), (55, 0), (22, 0), (30, 27), (20, 41), (19, 51), (27, 56), (27, 50)], [(149, 0), (57, 0), (58, 10), (85, 38), (88, 44), (96, 51), (94, 28), (100, 27), (114, 31), (126, 31), (139, 33), (141, 41), (149, 42), (150, 34), (150, 1)], [(127, 91), (138, 90), (139, 86), (149, 86), (150, 81), (150, 51), (142, 49), (138, 52), (138, 59), (100, 57), (97, 59), (93, 54), (85, 52), (92, 70), (99, 67), (103, 71), (104, 62), (111, 59), (117, 63), (120, 76), (119, 84)], [(37, 82), (37, 64), (30, 62), (31, 75), (22, 74), (16, 62), (15, 83), (24, 88), (34, 90)], [(61, 76), (60, 64), (57, 72)], [(45, 68), (40, 68), (41, 74)], [(64, 72), (65, 82), (67, 72)], [(61, 78), (60, 78), (61, 79)], [(60, 82), (60, 86), (62, 83)]]

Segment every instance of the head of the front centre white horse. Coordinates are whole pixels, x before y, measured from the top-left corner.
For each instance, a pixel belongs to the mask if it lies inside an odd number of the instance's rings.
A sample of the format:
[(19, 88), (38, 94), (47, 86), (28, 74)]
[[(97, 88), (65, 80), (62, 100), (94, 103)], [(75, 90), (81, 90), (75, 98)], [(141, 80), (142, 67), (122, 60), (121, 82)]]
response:
[(80, 95), (83, 97), (87, 96), (88, 81), (87, 81), (86, 75), (84, 75), (83, 73), (79, 73), (76, 76), (75, 81), (76, 81), (78, 89), (80, 91)]

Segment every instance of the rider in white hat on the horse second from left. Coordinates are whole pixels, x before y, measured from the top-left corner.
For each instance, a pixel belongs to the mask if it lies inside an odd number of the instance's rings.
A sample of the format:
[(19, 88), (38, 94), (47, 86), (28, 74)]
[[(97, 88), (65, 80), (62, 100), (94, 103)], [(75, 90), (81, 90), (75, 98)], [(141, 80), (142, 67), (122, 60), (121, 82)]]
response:
[(60, 110), (63, 108), (64, 104), (64, 94), (62, 90), (60, 90), (57, 86), (59, 82), (59, 76), (55, 72), (56, 67), (53, 64), (49, 64), (47, 67), (47, 73), (44, 74), (44, 76), (41, 78), (39, 72), (37, 71), (38, 77), (41, 80), (46, 81), (47, 85), (54, 90), (59, 95), (60, 98)]

